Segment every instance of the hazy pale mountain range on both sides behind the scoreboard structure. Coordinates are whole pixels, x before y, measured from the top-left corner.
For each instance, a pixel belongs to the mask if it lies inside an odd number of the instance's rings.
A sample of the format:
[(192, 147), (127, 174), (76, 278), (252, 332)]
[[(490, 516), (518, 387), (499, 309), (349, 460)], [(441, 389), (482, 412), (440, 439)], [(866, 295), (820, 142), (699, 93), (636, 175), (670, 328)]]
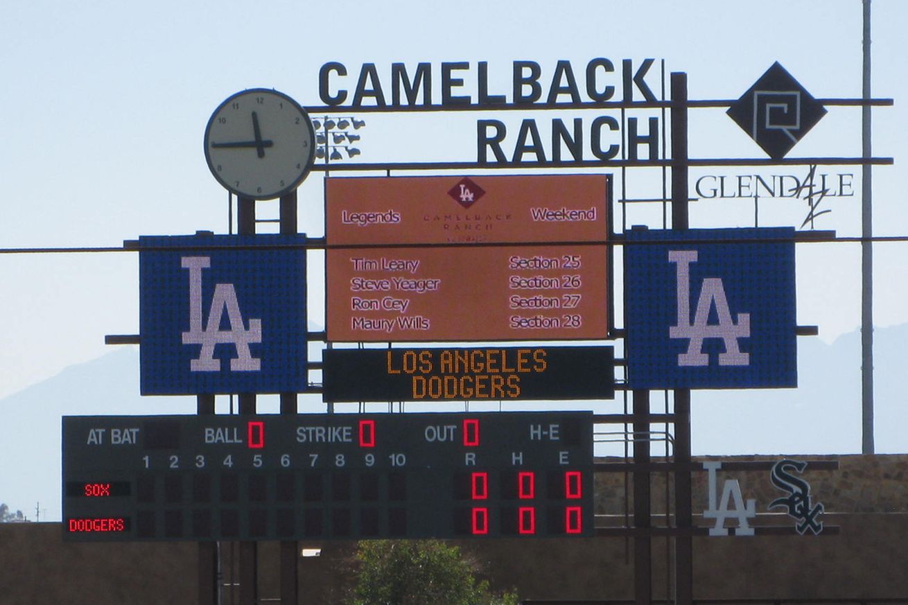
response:
[[(799, 386), (771, 391), (697, 391), (692, 394), (695, 454), (856, 453), (861, 450), (861, 338), (833, 344), (798, 339)], [(908, 324), (874, 334), (876, 451), (908, 451)], [(619, 395), (620, 396), (620, 395)], [(654, 393), (653, 409), (661, 393)], [(616, 402), (617, 404), (617, 402)], [(222, 403), (219, 403), (222, 405)], [(267, 400), (262, 412), (275, 412)], [(317, 397), (303, 408), (323, 410)], [(532, 406), (537, 407), (537, 406)], [(577, 407), (572, 406), (572, 407)], [(471, 408), (472, 409), (472, 408)], [(508, 408), (511, 409), (511, 408)], [(60, 519), (60, 428), (64, 415), (195, 412), (193, 397), (141, 397), (139, 352), (118, 347), (91, 362), (0, 399), (0, 502), (42, 520)]]

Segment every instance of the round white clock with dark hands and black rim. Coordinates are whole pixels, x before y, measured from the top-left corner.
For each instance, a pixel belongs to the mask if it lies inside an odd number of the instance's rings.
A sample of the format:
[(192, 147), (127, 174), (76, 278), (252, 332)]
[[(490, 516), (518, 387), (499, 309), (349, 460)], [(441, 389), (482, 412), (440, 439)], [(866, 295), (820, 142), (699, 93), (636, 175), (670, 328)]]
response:
[(205, 159), (214, 178), (242, 197), (269, 200), (309, 173), (315, 133), (305, 110), (286, 94), (252, 88), (228, 97), (205, 128)]

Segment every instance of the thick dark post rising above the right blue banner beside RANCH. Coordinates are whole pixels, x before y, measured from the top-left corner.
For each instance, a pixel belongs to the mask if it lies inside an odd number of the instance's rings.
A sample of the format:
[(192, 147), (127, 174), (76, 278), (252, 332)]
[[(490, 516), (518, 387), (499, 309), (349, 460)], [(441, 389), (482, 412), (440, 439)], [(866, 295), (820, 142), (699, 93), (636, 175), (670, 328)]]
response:
[[(687, 74), (671, 75), (672, 229), (689, 227), (687, 214)], [(675, 391), (675, 600), (694, 600), (694, 552), (691, 528), (690, 390)]]

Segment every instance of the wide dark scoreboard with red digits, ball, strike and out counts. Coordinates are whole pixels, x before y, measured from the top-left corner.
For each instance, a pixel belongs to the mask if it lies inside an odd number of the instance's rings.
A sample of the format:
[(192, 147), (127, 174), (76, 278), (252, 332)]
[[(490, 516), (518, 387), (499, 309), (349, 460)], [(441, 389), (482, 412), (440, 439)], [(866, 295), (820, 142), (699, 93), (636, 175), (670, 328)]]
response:
[(593, 534), (588, 412), (63, 419), (64, 540)]

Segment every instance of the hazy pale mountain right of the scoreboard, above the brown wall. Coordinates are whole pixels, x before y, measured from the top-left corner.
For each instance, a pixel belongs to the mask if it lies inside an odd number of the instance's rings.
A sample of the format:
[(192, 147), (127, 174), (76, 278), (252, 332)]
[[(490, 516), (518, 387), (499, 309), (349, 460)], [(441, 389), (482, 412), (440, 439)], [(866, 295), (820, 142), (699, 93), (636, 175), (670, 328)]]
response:
[[(908, 324), (873, 334), (874, 438), (878, 453), (908, 451)], [(694, 453), (860, 453), (861, 334), (831, 345), (798, 339), (798, 388), (694, 392)]]

